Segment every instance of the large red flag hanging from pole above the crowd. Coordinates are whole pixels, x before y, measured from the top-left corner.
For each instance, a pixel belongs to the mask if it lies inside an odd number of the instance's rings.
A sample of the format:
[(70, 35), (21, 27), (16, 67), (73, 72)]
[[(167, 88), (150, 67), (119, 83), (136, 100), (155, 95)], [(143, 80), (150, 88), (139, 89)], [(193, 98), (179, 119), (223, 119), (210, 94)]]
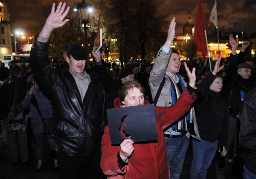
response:
[(204, 56), (207, 56), (207, 45), (205, 40), (205, 21), (204, 21), (204, 11), (202, 0), (198, 6), (198, 12), (195, 18), (195, 45), (197, 46), (198, 51), (200, 51)]

